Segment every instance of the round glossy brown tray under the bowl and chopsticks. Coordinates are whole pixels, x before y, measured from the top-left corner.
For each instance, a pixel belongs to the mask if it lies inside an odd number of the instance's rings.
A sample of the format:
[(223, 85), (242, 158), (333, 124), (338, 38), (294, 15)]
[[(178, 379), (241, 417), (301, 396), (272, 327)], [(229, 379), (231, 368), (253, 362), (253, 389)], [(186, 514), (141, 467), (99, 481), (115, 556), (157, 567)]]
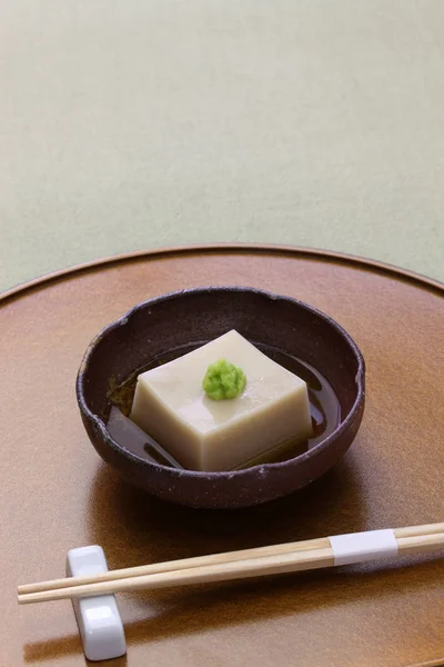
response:
[[(356, 340), (367, 368), (360, 434), (329, 475), (252, 509), (170, 506), (121, 481), (74, 395), (91, 338), (138, 301), (243, 285), (307, 301)], [(0, 300), (1, 665), (83, 664), (69, 601), (19, 607), (16, 586), (62, 576), (103, 546), (125, 567), (443, 520), (444, 286), (387, 266), (292, 248), (206, 247), (112, 258)], [(157, 667), (441, 665), (444, 567), (435, 556), (119, 597), (128, 655)]]

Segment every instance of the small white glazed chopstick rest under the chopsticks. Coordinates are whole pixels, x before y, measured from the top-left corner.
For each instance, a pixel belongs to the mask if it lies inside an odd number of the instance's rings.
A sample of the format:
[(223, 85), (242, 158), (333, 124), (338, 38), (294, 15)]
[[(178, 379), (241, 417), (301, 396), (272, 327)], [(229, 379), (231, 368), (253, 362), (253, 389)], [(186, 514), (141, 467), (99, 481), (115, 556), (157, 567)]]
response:
[[(83, 577), (107, 571), (102, 547), (81, 547), (68, 551), (68, 576)], [(109, 660), (127, 653), (123, 625), (113, 595), (73, 599), (72, 606), (83, 651), (89, 660)]]

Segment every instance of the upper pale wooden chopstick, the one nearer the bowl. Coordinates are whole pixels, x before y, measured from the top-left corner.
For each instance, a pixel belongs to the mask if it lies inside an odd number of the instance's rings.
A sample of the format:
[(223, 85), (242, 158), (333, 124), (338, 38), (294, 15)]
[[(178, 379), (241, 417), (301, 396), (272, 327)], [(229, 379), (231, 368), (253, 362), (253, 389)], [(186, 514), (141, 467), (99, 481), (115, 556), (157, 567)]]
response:
[[(432, 535), (435, 532), (444, 532), (444, 522), (442, 524), (425, 524), (423, 526), (408, 526), (407, 528), (396, 528), (395, 537), (415, 537), (420, 535)], [(40, 581), (37, 584), (24, 584), (18, 586), (17, 593), (26, 595), (30, 593), (39, 593), (43, 590), (54, 590), (58, 588), (68, 588), (69, 586), (85, 586), (87, 584), (95, 584), (99, 581), (115, 581), (117, 579), (129, 579), (132, 577), (141, 577), (145, 575), (157, 575), (179, 569), (189, 569), (193, 567), (204, 567), (206, 565), (216, 565), (220, 563), (232, 563), (236, 560), (248, 560), (249, 558), (261, 558), (264, 556), (273, 556), (274, 554), (289, 554), (296, 551), (305, 551), (315, 548), (329, 548), (330, 541), (327, 537), (317, 539), (307, 539), (304, 541), (285, 542), (282, 545), (271, 545), (266, 547), (256, 547), (253, 549), (242, 549), (239, 551), (225, 551), (223, 554), (212, 554), (210, 556), (196, 556), (193, 558), (181, 558), (180, 560), (167, 560), (163, 563), (153, 563), (150, 565), (141, 565), (138, 567), (127, 567), (123, 569), (109, 570), (102, 575), (90, 577), (63, 577), (61, 579), (52, 579), (49, 581)]]

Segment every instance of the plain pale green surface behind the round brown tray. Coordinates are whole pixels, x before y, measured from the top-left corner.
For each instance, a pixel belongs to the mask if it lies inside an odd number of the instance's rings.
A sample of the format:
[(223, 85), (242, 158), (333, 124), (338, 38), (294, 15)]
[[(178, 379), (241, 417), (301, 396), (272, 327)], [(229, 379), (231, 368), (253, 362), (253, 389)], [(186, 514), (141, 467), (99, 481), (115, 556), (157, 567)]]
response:
[(3, 0), (0, 289), (293, 243), (444, 279), (441, 0)]

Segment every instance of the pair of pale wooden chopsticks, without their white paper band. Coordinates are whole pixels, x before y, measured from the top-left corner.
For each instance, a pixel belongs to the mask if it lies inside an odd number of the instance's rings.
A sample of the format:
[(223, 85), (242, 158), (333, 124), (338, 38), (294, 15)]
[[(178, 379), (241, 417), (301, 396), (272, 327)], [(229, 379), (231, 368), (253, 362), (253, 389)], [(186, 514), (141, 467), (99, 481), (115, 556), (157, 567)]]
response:
[[(397, 554), (408, 555), (444, 547), (444, 522), (397, 528)], [(357, 563), (359, 560), (356, 560)], [(50, 601), (121, 591), (233, 580), (331, 567), (335, 565), (329, 537), (185, 558), (94, 577), (69, 577), (18, 587), (19, 604)]]

